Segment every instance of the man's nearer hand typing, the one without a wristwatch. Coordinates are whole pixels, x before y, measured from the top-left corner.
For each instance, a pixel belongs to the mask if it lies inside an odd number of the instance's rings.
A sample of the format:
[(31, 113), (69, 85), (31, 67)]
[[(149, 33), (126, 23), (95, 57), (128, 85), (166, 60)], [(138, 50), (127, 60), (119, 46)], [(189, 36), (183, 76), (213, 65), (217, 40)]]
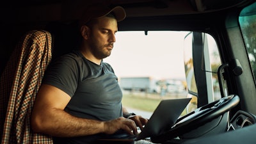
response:
[(128, 134), (138, 133), (135, 121), (128, 118), (120, 117), (104, 122), (104, 133), (106, 134), (113, 134), (120, 129), (123, 129)]

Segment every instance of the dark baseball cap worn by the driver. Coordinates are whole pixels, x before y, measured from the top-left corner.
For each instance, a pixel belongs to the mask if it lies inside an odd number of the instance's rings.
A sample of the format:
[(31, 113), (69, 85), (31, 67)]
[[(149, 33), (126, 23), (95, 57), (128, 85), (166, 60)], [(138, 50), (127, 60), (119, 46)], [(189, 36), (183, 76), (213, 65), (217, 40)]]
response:
[(100, 17), (104, 17), (111, 12), (114, 13), (117, 22), (124, 20), (126, 17), (125, 10), (124, 8), (122, 8), (122, 6), (115, 6), (113, 8), (109, 8), (109, 6), (97, 4), (93, 6), (88, 6), (88, 8), (84, 10), (80, 22), (83, 25), (91, 19), (98, 19)]

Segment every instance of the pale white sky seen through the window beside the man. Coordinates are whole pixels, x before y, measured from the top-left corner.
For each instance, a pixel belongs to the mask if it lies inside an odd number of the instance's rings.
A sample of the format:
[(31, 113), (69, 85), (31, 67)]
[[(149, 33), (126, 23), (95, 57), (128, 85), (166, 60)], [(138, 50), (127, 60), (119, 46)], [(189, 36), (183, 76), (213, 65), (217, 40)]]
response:
[(104, 59), (118, 77), (184, 79), (184, 31), (118, 31)]

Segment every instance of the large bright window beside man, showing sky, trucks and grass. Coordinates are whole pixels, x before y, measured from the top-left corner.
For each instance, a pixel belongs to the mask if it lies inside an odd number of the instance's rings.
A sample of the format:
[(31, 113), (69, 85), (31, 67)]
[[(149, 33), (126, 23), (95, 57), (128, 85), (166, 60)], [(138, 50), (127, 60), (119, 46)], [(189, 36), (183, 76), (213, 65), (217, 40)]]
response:
[[(118, 31), (109, 63), (125, 108), (150, 118), (162, 99), (187, 97), (184, 37), (188, 31)], [(142, 112), (143, 111), (143, 112)]]

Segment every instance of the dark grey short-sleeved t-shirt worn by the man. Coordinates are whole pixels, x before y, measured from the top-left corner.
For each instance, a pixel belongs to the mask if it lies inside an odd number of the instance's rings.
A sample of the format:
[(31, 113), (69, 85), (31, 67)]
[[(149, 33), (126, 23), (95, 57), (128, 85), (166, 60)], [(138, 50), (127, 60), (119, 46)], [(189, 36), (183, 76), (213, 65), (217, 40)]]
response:
[[(56, 86), (70, 95), (65, 111), (71, 115), (102, 121), (123, 115), (122, 90), (113, 68), (108, 63), (97, 65), (86, 60), (79, 51), (52, 61), (43, 83)], [(86, 138), (88, 136), (81, 140)]]

